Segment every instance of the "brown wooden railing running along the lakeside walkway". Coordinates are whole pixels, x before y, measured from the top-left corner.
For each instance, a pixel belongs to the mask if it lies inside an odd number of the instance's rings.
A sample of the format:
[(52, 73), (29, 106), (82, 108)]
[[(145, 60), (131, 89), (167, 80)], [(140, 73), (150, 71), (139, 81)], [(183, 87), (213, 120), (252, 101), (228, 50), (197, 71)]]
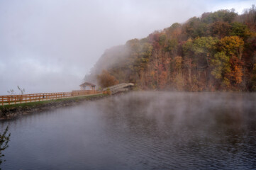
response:
[(23, 94), (23, 95), (8, 95), (0, 96), (0, 105), (10, 105), (16, 103), (28, 103), (35, 101), (48, 101), (58, 98), (70, 98), (74, 96), (85, 96), (90, 94), (101, 94), (101, 91), (86, 90), (86, 91), (72, 91), (62, 93), (46, 93), (46, 94)]

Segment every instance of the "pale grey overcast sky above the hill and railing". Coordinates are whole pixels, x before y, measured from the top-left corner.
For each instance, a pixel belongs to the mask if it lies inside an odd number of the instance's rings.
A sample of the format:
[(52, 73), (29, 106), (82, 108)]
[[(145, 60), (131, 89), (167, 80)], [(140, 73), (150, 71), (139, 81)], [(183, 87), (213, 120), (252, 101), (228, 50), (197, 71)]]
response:
[(104, 51), (245, 0), (0, 0), (0, 95), (79, 89)]

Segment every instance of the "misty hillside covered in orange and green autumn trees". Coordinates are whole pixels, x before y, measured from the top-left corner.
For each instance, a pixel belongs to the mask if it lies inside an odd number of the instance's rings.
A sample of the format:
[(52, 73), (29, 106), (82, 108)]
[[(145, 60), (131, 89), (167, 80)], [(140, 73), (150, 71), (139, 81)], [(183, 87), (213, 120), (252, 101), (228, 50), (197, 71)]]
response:
[[(256, 8), (204, 13), (104, 52), (87, 81), (138, 89), (256, 91)], [(105, 83), (106, 84), (106, 83)]]

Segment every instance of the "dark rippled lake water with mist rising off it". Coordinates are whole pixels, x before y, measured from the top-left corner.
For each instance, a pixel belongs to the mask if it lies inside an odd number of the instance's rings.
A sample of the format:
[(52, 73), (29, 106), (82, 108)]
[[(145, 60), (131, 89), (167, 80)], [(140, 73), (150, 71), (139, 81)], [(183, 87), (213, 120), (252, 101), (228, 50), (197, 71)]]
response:
[(256, 95), (133, 92), (26, 115), (2, 169), (256, 169)]

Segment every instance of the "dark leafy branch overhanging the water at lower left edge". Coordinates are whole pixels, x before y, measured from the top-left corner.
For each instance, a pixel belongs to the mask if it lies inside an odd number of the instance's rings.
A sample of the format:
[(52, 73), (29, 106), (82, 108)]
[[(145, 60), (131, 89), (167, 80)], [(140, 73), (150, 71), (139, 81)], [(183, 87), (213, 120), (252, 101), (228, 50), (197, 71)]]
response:
[(1, 170), (1, 163), (5, 162), (6, 160), (3, 160), (4, 157), (4, 150), (9, 147), (8, 143), (10, 141), (11, 133), (8, 133), (8, 126), (4, 130), (4, 132), (0, 131), (0, 170)]

